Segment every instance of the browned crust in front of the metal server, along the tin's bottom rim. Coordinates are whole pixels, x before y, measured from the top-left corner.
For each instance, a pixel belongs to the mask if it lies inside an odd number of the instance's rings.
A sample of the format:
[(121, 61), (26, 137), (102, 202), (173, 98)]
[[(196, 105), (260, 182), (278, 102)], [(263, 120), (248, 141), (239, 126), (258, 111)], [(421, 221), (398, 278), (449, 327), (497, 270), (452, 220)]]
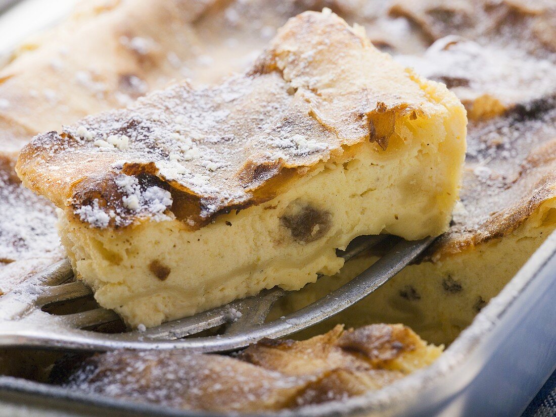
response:
[(413, 364), (404, 366), (406, 353), (426, 358), (416, 368), (430, 363), (435, 355), (425, 350), (426, 343), (399, 324), (346, 331), (337, 326), (304, 341), (261, 341), (237, 358), (183, 351), (96, 355), (65, 384), (187, 410), (280, 410), (379, 389), (413, 370)]

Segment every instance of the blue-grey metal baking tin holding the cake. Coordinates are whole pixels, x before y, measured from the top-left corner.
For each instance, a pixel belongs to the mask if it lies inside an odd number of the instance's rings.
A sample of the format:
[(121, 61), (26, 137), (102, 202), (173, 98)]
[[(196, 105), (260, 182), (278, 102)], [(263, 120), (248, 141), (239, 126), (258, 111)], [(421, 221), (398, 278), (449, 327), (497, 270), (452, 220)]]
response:
[[(56, 7), (57, 0), (50, 3)], [(66, 7), (64, 2), (61, 13)], [(28, 19), (24, 24), (29, 27)], [(556, 232), (428, 368), (363, 396), (279, 414), (519, 415), (555, 368)], [(0, 404), (23, 404), (28, 415), (217, 415), (108, 399), (7, 376), (0, 376)]]

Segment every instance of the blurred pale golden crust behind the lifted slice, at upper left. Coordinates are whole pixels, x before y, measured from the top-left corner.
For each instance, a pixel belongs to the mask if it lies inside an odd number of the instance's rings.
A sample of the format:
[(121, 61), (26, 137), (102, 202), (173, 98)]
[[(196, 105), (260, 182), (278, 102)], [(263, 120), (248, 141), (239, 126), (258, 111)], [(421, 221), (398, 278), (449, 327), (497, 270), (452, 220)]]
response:
[(287, 18), (326, 2), (297, 3), (81, 2), (0, 68), (0, 153), (14, 157), (37, 133), (126, 107), (172, 80), (214, 83), (244, 71)]

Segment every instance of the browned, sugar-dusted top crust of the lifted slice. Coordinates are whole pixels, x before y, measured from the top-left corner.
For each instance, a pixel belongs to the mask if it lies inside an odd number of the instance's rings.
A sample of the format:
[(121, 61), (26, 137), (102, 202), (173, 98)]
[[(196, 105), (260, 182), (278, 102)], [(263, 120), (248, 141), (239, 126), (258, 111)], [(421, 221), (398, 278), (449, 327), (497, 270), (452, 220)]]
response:
[[(272, 198), (277, 183), (344, 146), (370, 139), (379, 152), (396, 114), (445, 111), (411, 77), (339, 17), (306, 12), (280, 30), (246, 75), (215, 87), (177, 84), (126, 110), (39, 135), (18, 170), (59, 207), (73, 199), (76, 213), (96, 227), (161, 214), (145, 195), (153, 187), (158, 202), (162, 189), (171, 190), (173, 214), (198, 226)], [(139, 177), (132, 191), (139, 207), (121, 203), (130, 195), (126, 174)], [(106, 215), (97, 221), (110, 210), (109, 223)]]

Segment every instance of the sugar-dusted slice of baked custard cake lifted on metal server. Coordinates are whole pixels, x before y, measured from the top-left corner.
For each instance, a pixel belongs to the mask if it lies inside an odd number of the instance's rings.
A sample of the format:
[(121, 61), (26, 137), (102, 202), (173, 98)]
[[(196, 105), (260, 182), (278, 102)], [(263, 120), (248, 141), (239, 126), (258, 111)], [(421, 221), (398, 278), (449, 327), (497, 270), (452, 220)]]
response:
[(448, 228), (465, 109), (335, 14), (292, 18), (248, 73), (181, 83), (34, 138), (77, 276), (131, 326), (333, 274), (363, 234)]

